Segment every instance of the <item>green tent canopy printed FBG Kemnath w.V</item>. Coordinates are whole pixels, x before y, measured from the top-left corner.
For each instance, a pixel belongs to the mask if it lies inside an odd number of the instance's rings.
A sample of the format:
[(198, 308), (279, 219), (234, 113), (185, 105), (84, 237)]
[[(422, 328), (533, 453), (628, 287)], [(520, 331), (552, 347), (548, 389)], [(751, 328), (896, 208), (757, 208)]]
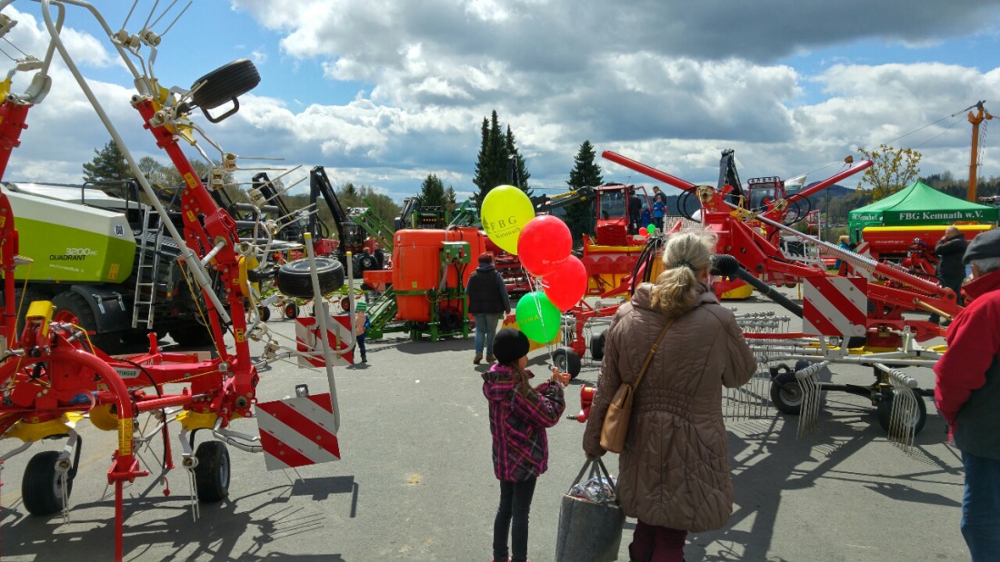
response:
[(1000, 210), (943, 194), (914, 182), (891, 196), (847, 214), (851, 240), (861, 240), (865, 227), (951, 225), (957, 221), (997, 222)]

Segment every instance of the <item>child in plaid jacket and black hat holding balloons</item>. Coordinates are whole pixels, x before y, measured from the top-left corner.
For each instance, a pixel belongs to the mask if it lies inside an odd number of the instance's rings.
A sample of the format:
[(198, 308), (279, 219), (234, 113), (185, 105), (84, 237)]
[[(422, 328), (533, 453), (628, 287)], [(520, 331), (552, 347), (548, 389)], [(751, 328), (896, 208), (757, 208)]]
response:
[[(559, 422), (569, 373), (552, 368), (549, 380), (532, 388), (528, 337), (505, 327), (497, 332), (497, 364), (483, 373), (483, 394), (490, 404), (493, 472), (500, 480), (500, 505), (493, 521), (494, 562), (524, 562), (528, 555), (528, 514), (537, 478), (549, 466), (547, 427)], [(511, 522), (513, 521), (513, 528)], [(511, 547), (507, 548), (507, 536)], [(508, 558), (508, 554), (512, 554)]]

